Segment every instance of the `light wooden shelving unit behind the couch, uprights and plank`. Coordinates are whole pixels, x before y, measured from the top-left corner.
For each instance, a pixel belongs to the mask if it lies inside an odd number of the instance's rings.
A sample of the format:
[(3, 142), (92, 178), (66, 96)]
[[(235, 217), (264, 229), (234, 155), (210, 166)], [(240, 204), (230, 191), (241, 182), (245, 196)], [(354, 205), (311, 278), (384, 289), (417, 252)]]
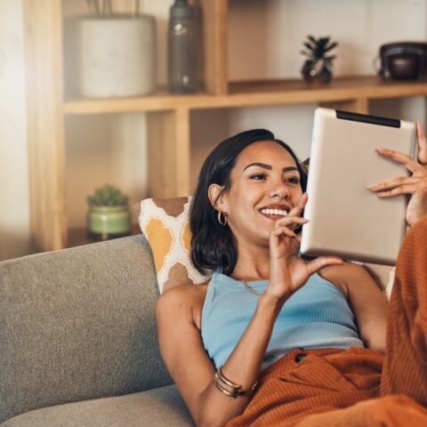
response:
[(175, 197), (189, 194), (192, 110), (318, 103), (368, 113), (371, 100), (427, 96), (427, 82), (385, 82), (379, 77), (334, 78), (327, 86), (310, 86), (301, 80), (230, 83), (228, 0), (201, 0), (200, 4), (205, 23), (205, 93), (177, 96), (159, 88), (157, 93), (141, 98), (91, 100), (64, 96), (61, 1), (24, 0), (31, 230), (36, 250), (85, 243), (81, 231), (68, 233), (67, 116), (146, 112), (152, 178), (149, 193), (153, 197)]

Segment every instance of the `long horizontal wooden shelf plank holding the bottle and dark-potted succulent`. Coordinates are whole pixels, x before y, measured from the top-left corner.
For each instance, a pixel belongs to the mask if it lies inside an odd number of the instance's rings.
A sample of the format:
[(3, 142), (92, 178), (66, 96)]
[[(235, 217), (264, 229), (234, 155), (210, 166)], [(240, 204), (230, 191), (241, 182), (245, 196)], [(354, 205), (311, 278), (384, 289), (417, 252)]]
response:
[(385, 81), (376, 76), (335, 77), (329, 85), (308, 85), (301, 79), (230, 83), (229, 94), (171, 95), (159, 90), (151, 96), (123, 99), (74, 99), (64, 103), (68, 115), (166, 111), (178, 108), (220, 109), (262, 105), (403, 98), (427, 95), (427, 80)]

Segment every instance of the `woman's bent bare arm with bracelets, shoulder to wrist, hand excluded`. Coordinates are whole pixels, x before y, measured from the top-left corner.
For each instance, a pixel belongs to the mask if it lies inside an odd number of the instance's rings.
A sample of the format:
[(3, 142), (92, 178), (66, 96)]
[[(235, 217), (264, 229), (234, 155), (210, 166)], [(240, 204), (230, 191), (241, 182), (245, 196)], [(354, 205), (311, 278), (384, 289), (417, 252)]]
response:
[[(203, 347), (195, 316), (195, 307), (203, 305), (205, 294), (197, 288), (178, 286), (157, 300), (157, 334), (166, 367), (197, 425), (222, 426), (241, 414), (250, 398), (231, 399), (214, 385), (214, 365)], [(254, 317), (222, 367), (223, 375), (243, 390), (249, 390), (259, 375), (282, 303), (260, 296)]]

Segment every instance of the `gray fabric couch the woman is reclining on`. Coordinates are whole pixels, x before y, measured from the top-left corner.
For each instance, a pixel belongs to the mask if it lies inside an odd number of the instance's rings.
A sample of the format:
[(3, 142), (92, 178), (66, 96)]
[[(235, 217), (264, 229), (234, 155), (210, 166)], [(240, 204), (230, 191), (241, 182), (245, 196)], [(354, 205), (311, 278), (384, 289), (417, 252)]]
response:
[(194, 425), (142, 235), (0, 262), (1, 427)]

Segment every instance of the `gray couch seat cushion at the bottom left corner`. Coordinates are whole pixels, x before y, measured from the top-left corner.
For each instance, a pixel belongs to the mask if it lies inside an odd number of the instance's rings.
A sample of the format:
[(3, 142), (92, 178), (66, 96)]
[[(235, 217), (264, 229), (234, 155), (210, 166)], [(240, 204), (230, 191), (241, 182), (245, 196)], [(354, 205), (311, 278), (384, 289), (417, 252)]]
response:
[(44, 407), (13, 417), (1, 427), (184, 427), (191, 416), (176, 386)]

